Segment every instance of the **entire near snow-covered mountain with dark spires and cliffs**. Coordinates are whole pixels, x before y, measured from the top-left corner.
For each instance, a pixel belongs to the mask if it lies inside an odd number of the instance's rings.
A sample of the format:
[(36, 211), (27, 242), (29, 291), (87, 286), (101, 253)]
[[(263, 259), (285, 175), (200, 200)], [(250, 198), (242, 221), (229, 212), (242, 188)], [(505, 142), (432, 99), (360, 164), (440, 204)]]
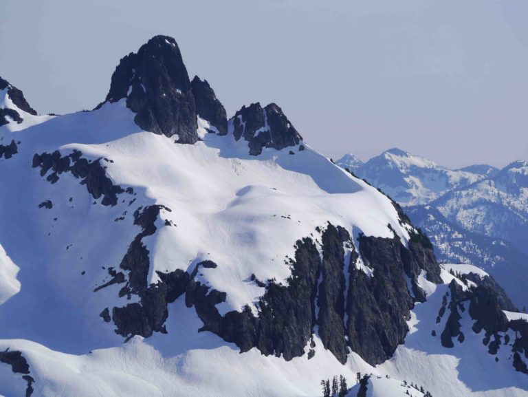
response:
[(485, 272), (278, 105), (228, 119), (174, 39), (93, 111), (1, 95), (1, 395), (527, 394), (528, 322)]

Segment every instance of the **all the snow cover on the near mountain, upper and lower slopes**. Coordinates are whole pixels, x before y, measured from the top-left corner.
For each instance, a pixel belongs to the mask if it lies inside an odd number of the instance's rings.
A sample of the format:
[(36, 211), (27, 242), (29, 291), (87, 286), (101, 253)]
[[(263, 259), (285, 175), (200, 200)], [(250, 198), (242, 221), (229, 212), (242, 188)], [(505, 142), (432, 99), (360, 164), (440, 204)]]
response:
[[(3, 141), (18, 142), (18, 153), (0, 160), (0, 352), (22, 352), (34, 397), (315, 397), (321, 379), (342, 374), (353, 386), (357, 372), (372, 374), (367, 396), (374, 397), (405, 396), (404, 380), (435, 397), (527, 396), (528, 377), (483, 349), (467, 311), (466, 341), (441, 347), (431, 332), (439, 335), (445, 326), (447, 316), (441, 323), (435, 318), (448, 287), (430, 283), (425, 272), (419, 285), (428, 301), (412, 312), (406, 344), (377, 367), (353, 352), (341, 365), (318, 336), (311, 359), (285, 361), (255, 348), (240, 354), (219, 336), (197, 332), (203, 324), (184, 297), (168, 306), (167, 334), (123, 343), (100, 312), (134, 298), (119, 297), (118, 285), (94, 289), (109, 281), (108, 268), (119, 266), (140, 233), (133, 218), (140, 207), (164, 206), (156, 233), (143, 240), (149, 281), (157, 281), (157, 271), (190, 272), (210, 259), (217, 268), (201, 268), (197, 277), (227, 293), (221, 313), (245, 304), (256, 310), (264, 288), (250, 277), (284, 282), (296, 240), (317, 241), (316, 229), (327, 222), (347, 228), (354, 241), (360, 233), (393, 237), (390, 225), (404, 244), (408, 226), (386, 196), (304, 143), (304, 150), (263, 149), (255, 157), (247, 142), (232, 138), (232, 127), (218, 136), (199, 122), (202, 141), (175, 144), (177, 136), (141, 131), (124, 100), (67, 116), (29, 116), (26, 125), (0, 127)], [(51, 171), (41, 175), (31, 167), (33, 158), (56, 150), (101, 159), (111, 182), (133, 193), (120, 193), (115, 206), (106, 206), (72, 173), (47, 180)], [(446, 283), (453, 278), (448, 270), (442, 276)], [(498, 356), (511, 360), (507, 352)], [(0, 394), (23, 396), (25, 387), (21, 374), (0, 365)]]

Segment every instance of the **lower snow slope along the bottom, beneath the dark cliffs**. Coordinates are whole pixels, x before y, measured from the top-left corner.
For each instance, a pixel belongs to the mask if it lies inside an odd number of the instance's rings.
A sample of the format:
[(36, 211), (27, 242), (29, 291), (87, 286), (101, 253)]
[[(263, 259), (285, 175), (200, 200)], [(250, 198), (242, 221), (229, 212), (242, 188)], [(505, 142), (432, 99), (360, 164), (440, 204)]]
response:
[[(445, 317), (436, 323), (441, 299), (448, 291), (438, 286), (426, 303), (417, 305), (409, 324), (406, 344), (393, 358), (377, 367), (364, 363), (355, 353), (341, 365), (316, 337), (316, 354), (284, 361), (256, 350), (239, 354), (238, 348), (208, 332), (198, 333), (201, 321), (179, 299), (170, 305), (168, 334), (150, 339), (135, 337), (124, 345), (74, 355), (50, 350), (31, 341), (1, 340), (0, 351), (10, 347), (23, 352), (35, 378), (35, 396), (320, 396), (320, 380), (343, 375), (353, 387), (356, 373), (370, 374), (367, 396), (413, 396), (422, 386), (432, 396), (526, 396), (528, 378), (502, 361), (511, 354), (499, 352), (500, 360), (483, 349), (481, 335), (474, 334), (463, 314), (464, 343), (446, 350), (439, 343)], [(406, 385), (407, 384), (407, 385)], [(23, 394), (25, 383), (0, 365), (0, 392)]]

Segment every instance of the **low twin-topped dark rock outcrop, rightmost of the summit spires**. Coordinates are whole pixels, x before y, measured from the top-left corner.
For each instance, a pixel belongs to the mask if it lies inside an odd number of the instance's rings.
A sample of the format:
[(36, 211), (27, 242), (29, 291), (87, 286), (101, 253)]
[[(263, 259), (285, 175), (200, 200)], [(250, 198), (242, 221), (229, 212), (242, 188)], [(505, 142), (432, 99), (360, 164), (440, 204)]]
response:
[(235, 140), (241, 137), (247, 140), (251, 155), (261, 154), (263, 147), (280, 150), (296, 146), (303, 140), (282, 109), (274, 103), (264, 108), (260, 103), (243, 106), (234, 114), (232, 121)]

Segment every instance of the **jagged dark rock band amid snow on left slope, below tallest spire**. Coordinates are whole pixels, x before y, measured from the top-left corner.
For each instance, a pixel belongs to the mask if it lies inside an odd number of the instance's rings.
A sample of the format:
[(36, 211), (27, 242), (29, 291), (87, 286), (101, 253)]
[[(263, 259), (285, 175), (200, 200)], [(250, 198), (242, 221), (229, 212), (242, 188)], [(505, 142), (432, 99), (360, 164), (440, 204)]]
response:
[[(52, 170), (47, 175), (47, 180), (52, 184), (58, 181), (58, 175), (69, 172), (75, 178), (80, 178), (80, 184), (87, 187), (88, 192), (94, 199), (102, 197), (101, 204), (104, 206), (115, 206), (118, 203), (118, 194), (125, 193), (121, 186), (113, 184), (112, 180), (106, 174), (106, 167), (102, 166), (102, 158), (91, 161), (82, 158), (78, 150), (71, 154), (61, 156), (59, 151), (53, 153), (35, 154), (33, 156), (33, 168), (41, 169), (41, 176)], [(132, 194), (133, 190), (126, 189), (126, 193)]]

